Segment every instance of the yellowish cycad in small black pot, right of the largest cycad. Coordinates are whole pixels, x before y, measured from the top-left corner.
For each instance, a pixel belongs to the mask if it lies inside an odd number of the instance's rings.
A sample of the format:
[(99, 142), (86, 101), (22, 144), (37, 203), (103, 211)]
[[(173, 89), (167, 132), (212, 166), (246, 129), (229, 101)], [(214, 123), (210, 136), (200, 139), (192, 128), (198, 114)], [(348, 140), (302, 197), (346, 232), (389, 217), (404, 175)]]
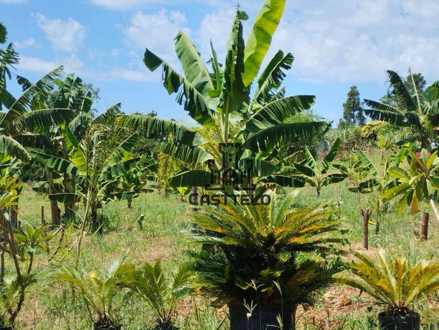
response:
[(386, 305), (387, 316), (407, 316), (414, 313), (413, 304), (439, 289), (439, 264), (421, 261), (409, 266), (404, 257), (391, 257), (380, 249), (378, 263), (356, 252), (357, 261), (348, 263), (351, 277), (338, 283), (356, 287)]

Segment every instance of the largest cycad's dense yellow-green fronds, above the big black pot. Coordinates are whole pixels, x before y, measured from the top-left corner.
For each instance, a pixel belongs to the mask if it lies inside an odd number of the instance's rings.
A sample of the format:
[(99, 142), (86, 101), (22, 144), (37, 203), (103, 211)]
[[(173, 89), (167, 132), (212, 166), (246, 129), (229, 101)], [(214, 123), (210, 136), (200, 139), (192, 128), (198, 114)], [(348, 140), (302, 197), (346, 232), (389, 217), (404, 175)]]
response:
[[(227, 302), (254, 302), (261, 306), (313, 305), (332, 283), (337, 262), (317, 253), (344, 243), (335, 207), (322, 203), (294, 208), (298, 190), (277, 195), (268, 205), (204, 206), (191, 214), (192, 243), (200, 252), (188, 252), (198, 273), (196, 290)], [(311, 252), (311, 253), (306, 253)], [(281, 292), (281, 293), (280, 293)]]

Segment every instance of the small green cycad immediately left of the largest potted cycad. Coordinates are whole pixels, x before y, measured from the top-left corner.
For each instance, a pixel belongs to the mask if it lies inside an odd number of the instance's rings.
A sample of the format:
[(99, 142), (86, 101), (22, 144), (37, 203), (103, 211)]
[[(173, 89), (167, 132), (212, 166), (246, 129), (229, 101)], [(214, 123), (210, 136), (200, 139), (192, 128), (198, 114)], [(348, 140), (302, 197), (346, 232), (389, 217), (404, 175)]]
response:
[(177, 329), (174, 326), (176, 310), (182, 298), (192, 291), (193, 276), (191, 263), (182, 263), (169, 276), (158, 259), (154, 265), (144, 263), (143, 267), (129, 273), (124, 285), (130, 287), (151, 307), (156, 318), (157, 330)]

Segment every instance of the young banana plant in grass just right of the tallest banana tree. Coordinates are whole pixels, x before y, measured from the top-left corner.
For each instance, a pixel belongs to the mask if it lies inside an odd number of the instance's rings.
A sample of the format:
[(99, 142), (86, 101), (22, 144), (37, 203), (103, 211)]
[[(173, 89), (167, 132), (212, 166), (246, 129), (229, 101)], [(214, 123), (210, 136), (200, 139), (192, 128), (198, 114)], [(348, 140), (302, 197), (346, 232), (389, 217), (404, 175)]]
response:
[(331, 149), (328, 151), (323, 160), (315, 160), (308, 147), (306, 147), (306, 158), (301, 163), (294, 163), (294, 167), (305, 177), (306, 182), (316, 187), (316, 196), (320, 196), (320, 189), (332, 183), (343, 181), (348, 174), (331, 173), (327, 174), (329, 167), (337, 156), (340, 139), (337, 138)]

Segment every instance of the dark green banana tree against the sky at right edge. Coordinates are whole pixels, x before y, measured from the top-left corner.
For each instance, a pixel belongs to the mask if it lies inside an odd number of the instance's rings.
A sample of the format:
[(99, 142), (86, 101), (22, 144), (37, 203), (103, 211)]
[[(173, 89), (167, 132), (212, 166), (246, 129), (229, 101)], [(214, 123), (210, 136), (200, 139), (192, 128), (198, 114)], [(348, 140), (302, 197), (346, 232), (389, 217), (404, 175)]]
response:
[[(364, 112), (374, 120), (387, 121), (396, 126), (412, 126), (421, 148), (433, 149), (439, 144), (436, 134), (436, 127), (439, 125), (439, 81), (427, 88), (427, 100), (421, 101), (410, 70), (406, 84), (395, 71), (388, 70), (386, 73), (398, 97), (398, 104), (391, 106), (365, 99), (364, 103), (371, 109)], [(435, 145), (432, 145), (433, 141)]]

